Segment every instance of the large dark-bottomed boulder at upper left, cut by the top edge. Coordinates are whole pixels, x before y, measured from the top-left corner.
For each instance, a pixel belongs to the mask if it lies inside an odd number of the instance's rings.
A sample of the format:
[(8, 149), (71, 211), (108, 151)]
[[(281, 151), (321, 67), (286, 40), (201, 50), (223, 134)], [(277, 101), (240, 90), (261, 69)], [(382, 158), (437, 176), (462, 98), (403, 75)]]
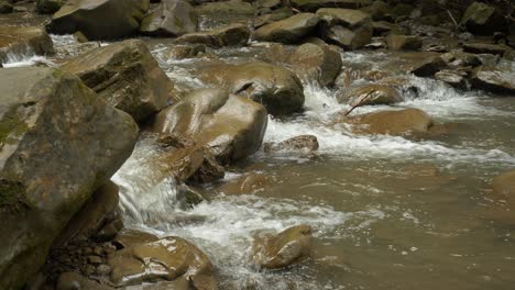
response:
[(149, 0), (68, 0), (46, 29), (55, 34), (80, 31), (90, 41), (121, 38), (139, 31), (149, 5)]

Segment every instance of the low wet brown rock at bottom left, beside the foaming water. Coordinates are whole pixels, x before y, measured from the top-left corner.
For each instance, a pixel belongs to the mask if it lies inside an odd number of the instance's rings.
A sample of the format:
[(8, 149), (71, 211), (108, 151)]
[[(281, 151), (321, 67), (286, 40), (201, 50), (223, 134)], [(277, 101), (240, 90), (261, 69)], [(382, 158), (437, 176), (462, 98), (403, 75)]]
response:
[(110, 254), (108, 265), (112, 269), (110, 279), (118, 287), (172, 281), (182, 276), (206, 278), (215, 286), (208, 257), (180, 237), (133, 244)]

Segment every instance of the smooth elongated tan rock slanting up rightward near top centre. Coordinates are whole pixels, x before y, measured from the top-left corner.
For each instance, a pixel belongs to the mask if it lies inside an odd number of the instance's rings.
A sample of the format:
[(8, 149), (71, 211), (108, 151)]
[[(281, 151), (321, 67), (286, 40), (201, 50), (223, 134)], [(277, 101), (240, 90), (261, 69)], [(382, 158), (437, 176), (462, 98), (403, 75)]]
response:
[(313, 13), (298, 13), (261, 26), (252, 37), (260, 42), (297, 43), (315, 31), (318, 21)]

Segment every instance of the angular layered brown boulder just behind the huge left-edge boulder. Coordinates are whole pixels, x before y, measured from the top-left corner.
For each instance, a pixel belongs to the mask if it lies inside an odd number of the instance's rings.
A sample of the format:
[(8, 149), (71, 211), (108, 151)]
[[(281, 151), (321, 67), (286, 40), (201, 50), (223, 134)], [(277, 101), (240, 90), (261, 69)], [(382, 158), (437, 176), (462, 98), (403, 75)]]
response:
[(146, 45), (129, 40), (96, 48), (62, 67), (111, 105), (142, 122), (167, 104), (172, 85)]

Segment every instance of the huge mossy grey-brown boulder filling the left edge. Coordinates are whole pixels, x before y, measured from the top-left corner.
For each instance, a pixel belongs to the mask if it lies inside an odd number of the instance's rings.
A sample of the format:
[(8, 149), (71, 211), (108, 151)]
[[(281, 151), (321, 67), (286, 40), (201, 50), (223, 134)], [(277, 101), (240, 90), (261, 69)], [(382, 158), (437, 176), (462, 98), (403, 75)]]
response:
[(0, 285), (20, 289), (131, 155), (138, 126), (70, 74), (0, 69)]

